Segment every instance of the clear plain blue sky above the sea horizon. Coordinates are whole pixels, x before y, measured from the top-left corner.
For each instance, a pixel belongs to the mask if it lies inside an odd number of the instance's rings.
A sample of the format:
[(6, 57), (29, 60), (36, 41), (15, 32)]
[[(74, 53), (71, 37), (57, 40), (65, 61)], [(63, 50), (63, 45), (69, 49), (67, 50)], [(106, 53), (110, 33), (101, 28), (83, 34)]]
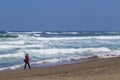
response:
[(120, 0), (0, 0), (0, 31), (120, 31)]

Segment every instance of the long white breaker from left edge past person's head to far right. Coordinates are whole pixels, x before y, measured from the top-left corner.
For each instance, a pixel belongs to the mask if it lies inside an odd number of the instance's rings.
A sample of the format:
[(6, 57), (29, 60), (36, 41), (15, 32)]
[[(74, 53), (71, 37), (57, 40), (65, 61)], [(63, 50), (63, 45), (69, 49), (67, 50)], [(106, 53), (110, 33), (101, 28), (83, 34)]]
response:
[[(67, 55), (67, 54), (91, 54), (91, 53), (102, 53), (102, 52), (109, 52), (111, 51), (108, 48), (105, 47), (101, 47), (101, 48), (78, 48), (78, 49), (74, 49), (74, 48), (70, 48), (70, 49), (41, 49), (41, 50), (35, 50), (35, 49), (29, 49), (29, 50), (24, 50), (27, 53), (31, 53), (32, 56), (34, 57), (50, 57), (50, 56), (59, 56), (59, 55)], [(0, 55), (0, 58), (6, 57), (6, 58), (10, 58), (10, 57), (24, 57), (24, 52), (16, 52), (16, 53), (12, 53), (12, 54), (2, 54)], [(93, 54), (94, 55), (94, 54)]]

